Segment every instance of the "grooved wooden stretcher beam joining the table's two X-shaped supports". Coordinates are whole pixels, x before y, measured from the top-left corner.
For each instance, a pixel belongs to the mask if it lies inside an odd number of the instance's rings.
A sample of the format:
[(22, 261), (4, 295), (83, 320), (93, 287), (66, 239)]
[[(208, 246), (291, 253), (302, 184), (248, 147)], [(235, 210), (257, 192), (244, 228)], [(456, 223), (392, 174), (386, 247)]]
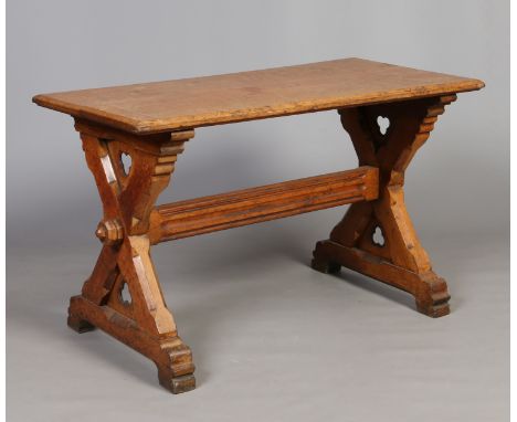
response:
[(374, 167), (315, 176), (243, 189), (155, 208), (150, 217), (151, 243), (210, 233), (377, 199), (379, 173)]

